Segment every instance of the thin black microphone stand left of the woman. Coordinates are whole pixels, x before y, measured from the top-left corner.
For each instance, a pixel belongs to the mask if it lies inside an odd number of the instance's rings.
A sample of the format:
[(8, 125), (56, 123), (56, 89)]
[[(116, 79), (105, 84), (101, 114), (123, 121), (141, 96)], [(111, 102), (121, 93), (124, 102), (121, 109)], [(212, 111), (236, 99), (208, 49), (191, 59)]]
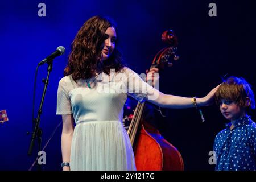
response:
[[(41, 103), (40, 103), (40, 106), (39, 106), (39, 109), (38, 109), (38, 117), (37, 118), (33, 118), (33, 123), (35, 122), (35, 127), (34, 127), (34, 132), (32, 133), (32, 137), (31, 137), (31, 142), (30, 142), (30, 148), (28, 150), (28, 155), (31, 156), (32, 154), (32, 150), (33, 150), (33, 147), (34, 147), (34, 143), (35, 143), (35, 140), (38, 139), (38, 152), (41, 151), (41, 144), (42, 144), (42, 129), (40, 129), (39, 127), (39, 123), (40, 123), (40, 116), (42, 114), (42, 107), (43, 107), (43, 102), (44, 102), (44, 97), (46, 96), (46, 89), (47, 89), (47, 86), (48, 86), (48, 83), (49, 83), (49, 75), (52, 71), (52, 59), (51, 60), (48, 60), (47, 61), (47, 64), (48, 64), (48, 68), (47, 68), (47, 78), (46, 80), (43, 79), (43, 82), (44, 82), (44, 90), (43, 90), (43, 95), (42, 95), (42, 98), (41, 98)], [(36, 153), (36, 155), (38, 155), (38, 152)], [(38, 170), (41, 171), (42, 170), (42, 165), (38, 164), (38, 156), (36, 156), (36, 164), (38, 166)]]

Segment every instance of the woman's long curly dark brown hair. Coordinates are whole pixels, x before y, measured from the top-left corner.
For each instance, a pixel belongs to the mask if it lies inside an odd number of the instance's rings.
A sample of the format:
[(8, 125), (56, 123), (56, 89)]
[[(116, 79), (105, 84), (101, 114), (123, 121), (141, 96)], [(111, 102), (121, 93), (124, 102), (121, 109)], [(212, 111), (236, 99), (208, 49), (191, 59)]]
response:
[[(109, 27), (114, 27), (117, 32), (113, 20), (102, 16), (93, 16), (84, 23), (72, 42), (64, 76), (72, 74), (73, 80), (77, 82), (79, 79), (91, 78), (99, 71), (109, 75), (110, 69), (118, 72), (124, 67), (121, 53), (116, 47), (109, 59), (100, 61), (106, 39), (105, 32)], [(117, 42), (115, 44), (117, 46)]]

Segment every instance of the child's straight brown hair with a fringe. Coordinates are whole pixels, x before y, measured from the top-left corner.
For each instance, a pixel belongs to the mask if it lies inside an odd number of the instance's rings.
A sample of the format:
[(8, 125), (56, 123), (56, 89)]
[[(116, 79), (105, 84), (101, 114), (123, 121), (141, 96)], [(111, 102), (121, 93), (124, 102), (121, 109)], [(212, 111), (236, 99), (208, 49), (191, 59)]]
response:
[[(219, 104), (222, 99), (234, 101), (238, 106), (246, 108), (247, 111), (255, 109), (253, 90), (242, 77), (231, 76), (223, 81), (215, 93), (216, 104)], [(249, 103), (247, 99), (249, 99)]]

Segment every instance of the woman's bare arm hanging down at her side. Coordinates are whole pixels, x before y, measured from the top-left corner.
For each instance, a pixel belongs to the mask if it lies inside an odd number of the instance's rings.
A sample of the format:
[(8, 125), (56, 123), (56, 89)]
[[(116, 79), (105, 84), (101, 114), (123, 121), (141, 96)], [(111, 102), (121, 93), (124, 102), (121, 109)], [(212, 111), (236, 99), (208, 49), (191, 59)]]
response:
[[(74, 119), (72, 114), (62, 115), (63, 127), (61, 134), (61, 152), (62, 152), (62, 161), (70, 161), (71, 153), (71, 142), (74, 131)], [(67, 166), (63, 167), (63, 171), (69, 171), (70, 168)]]

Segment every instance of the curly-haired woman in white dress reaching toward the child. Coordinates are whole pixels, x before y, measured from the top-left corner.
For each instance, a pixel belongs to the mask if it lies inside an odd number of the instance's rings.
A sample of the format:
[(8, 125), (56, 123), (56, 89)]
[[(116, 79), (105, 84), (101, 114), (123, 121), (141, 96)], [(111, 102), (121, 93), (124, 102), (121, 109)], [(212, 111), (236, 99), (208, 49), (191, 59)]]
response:
[[(161, 107), (195, 105), (192, 98), (163, 94), (142, 81), (121, 63), (116, 43), (116, 26), (101, 16), (87, 20), (72, 42), (57, 92), (56, 114), (63, 119), (63, 170), (136, 170), (122, 125), (127, 95)], [(197, 98), (197, 106), (209, 105), (216, 89)]]

